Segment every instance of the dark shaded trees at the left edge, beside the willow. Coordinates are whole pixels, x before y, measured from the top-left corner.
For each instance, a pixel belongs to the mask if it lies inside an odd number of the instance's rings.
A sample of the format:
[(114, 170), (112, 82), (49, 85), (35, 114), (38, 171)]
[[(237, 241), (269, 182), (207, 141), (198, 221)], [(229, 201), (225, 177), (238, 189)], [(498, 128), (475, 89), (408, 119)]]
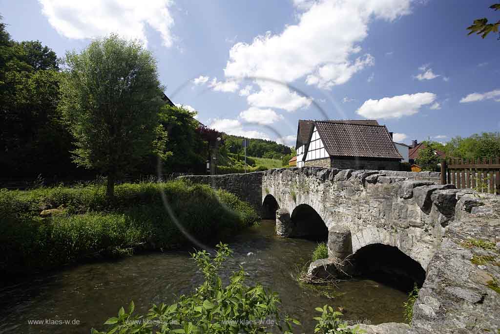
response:
[(71, 173), (71, 141), (58, 122), (55, 53), (17, 43), (0, 24), (0, 169), (4, 176)]

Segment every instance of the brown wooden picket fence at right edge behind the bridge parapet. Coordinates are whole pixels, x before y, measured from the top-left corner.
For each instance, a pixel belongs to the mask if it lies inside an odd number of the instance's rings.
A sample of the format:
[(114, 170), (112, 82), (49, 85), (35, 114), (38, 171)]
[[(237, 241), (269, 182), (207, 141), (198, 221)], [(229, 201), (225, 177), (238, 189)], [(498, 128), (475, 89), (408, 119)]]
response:
[(449, 158), (441, 162), (441, 184), (457, 189), (500, 194), (500, 158), (477, 158), (475, 161)]

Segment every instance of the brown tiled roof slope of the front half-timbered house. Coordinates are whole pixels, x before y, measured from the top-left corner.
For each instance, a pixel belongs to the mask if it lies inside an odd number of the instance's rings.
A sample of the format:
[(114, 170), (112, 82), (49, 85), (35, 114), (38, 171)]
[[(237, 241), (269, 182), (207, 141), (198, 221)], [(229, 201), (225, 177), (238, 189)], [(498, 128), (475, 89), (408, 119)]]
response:
[(353, 121), (314, 124), (330, 156), (402, 159), (384, 125)]

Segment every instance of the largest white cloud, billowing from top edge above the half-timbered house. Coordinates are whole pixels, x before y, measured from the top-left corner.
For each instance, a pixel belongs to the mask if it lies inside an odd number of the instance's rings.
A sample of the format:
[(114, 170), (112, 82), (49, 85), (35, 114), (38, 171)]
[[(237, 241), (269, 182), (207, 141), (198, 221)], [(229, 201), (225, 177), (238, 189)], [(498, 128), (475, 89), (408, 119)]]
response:
[(288, 88), (280, 88), (275, 98), (277, 85), (263, 78), (281, 83), (305, 78), (307, 84), (321, 88), (343, 84), (373, 64), (368, 54), (352, 59), (361, 51), (358, 44), (368, 35), (368, 24), (407, 15), (409, 5), (409, 0), (296, 0), (295, 6), (306, 10), (298, 14), (297, 24), (286, 26), (280, 34), (257, 36), (250, 44), (235, 44), (224, 75), (260, 78), (255, 81), (260, 91), (248, 96), (250, 105), (288, 111), (307, 107), (310, 100)]

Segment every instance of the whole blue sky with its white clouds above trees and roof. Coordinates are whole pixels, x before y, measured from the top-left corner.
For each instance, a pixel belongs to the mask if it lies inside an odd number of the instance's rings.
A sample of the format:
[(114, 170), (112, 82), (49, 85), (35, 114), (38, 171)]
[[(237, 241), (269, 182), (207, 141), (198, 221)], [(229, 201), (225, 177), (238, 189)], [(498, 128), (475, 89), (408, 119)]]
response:
[(298, 119), (377, 119), (396, 140), (500, 131), (494, 0), (0, 0), (12, 38), (58, 56), (138, 38), (165, 93), (224, 132), (293, 145)]

